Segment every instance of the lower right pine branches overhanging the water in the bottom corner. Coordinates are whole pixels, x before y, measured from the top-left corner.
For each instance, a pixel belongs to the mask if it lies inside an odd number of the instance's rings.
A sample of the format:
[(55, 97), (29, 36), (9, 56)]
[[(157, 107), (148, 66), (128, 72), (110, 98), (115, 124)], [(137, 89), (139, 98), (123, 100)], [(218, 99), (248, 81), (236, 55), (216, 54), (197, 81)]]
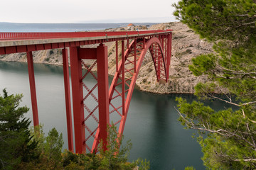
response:
[[(178, 98), (181, 117), (186, 128), (198, 130), (198, 142), (203, 148), (203, 162), (212, 169), (242, 169), (255, 167), (255, 113), (245, 116), (243, 108), (213, 111), (203, 103)], [(255, 120), (255, 119), (254, 119)]]

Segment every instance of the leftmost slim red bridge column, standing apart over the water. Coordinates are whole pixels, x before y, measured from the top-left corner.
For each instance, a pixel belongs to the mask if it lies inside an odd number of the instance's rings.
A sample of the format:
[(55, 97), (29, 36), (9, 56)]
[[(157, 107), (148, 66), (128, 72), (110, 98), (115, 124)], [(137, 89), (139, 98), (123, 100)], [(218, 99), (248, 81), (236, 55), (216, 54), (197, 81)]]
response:
[(27, 52), (27, 61), (28, 61), (28, 77), (29, 77), (29, 84), (31, 89), (31, 105), (32, 105), (32, 112), (33, 112), (33, 125), (39, 125), (38, 120), (38, 107), (36, 101), (36, 83), (35, 83), (35, 74), (33, 69), (33, 55), (32, 52)]

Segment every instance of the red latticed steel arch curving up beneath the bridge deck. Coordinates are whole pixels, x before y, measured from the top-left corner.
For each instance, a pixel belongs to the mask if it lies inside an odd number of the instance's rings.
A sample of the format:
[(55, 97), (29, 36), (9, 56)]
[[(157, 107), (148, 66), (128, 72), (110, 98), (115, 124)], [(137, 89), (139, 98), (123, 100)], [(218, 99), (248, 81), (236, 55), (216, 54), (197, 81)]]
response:
[[(114, 123), (116, 125), (119, 123), (118, 132), (120, 135), (122, 135), (124, 131), (124, 125), (127, 119), (129, 104), (132, 99), (132, 92), (134, 90), (136, 79), (139, 74), (139, 69), (142, 66), (142, 61), (144, 60), (147, 50), (150, 49), (151, 57), (154, 62), (154, 67), (156, 70), (157, 80), (159, 81), (159, 79), (161, 78), (160, 76), (162, 73), (161, 74), (157, 74), (157, 73), (162, 72), (163, 71), (162, 68), (164, 68), (164, 75), (165, 75), (164, 78), (165, 80), (167, 80), (166, 65), (164, 64), (164, 52), (161, 47), (160, 40), (158, 38), (151, 38), (145, 41), (146, 43), (144, 42), (144, 40), (132, 41), (132, 43), (129, 45), (129, 49), (126, 50), (126, 52), (124, 53), (124, 58), (119, 62), (118, 70), (114, 74), (114, 79), (112, 81), (112, 85), (110, 86), (110, 108), (111, 106), (113, 108), (113, 110), (110, 111), (110, 114), (113, 112), (116, 112), (118, 113), (118, 115), (121, 116), (121, 118)], [(134, 55), (135, 50), (137, 50), (136, 55)], [(132, 58), (133, 60), (130, 60), (130, 58)], [(135, 59), (136, 59), (136, 62), (134, 62)], [(134, 67), (132, 68), (129, 67), (129, 64), (134, 65)], [(118, 79), (122, 81), (118, 82)], [(122, 86), (122, 91), (118, 91), (118, 86)], [(114, 91), (116, 91), (117, 93), (113, 97)], [(116, 99), (117, 97), (122, 98), (122, 105), (115, 107), (114, 103), (112, 103), (112, 100)], [(122, 108), (122, 111), (118, 111), (117, 108)]]

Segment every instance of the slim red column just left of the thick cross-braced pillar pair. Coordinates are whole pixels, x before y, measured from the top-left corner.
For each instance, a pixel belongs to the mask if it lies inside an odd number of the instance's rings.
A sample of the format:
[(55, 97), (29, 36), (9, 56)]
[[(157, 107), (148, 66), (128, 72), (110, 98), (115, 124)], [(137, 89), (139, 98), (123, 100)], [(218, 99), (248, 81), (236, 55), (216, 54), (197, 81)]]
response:
[(72, 116), (71, 116), (71, 104), (70, 104), (70, 80), (68, 69), (68, 50), (63, 49), (63, 75), (64, 75), (64, 88), (65, 88), (65, 106), (66, 106), (66, 118), (68, 129), (68, 149), (74, 152), (73, 148), (73, 130), (72, 130)]

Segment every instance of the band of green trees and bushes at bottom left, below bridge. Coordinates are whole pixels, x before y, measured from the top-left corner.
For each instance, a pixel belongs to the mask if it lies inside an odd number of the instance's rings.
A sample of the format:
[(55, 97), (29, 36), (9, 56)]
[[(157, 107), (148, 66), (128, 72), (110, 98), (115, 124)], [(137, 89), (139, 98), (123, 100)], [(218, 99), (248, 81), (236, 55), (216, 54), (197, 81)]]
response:
[[(108, 128), (107, 150), (101, 144), (99, 154), (74, 154), (62, 152), (62, 134), (53, 128), (45, 136), (43, 126), (31, 128), (31, 121), (24, 118), (26, 106), (19, 107), (22, 95), (0, 96), (0, 169), (149, 169), (149, 162), (142, 159), (129, 163), (132, 144), (122, 145), (114, 125)], [(119, 146), (122, 147), (119, 147)]]

